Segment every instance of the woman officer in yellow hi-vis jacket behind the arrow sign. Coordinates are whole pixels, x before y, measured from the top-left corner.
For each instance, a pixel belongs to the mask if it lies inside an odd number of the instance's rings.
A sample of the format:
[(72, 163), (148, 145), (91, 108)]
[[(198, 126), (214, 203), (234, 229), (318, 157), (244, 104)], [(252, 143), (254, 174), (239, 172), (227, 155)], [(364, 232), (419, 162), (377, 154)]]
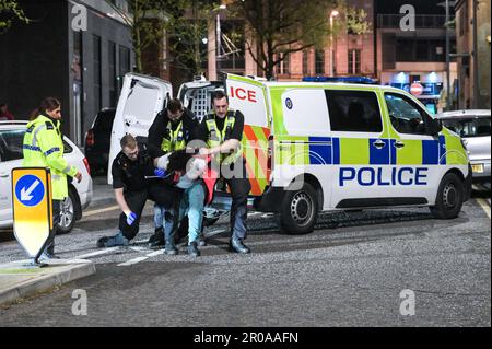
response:
[(63, 159), (63, 140), (60, 131), (61, 104), (54, 97), (45, 98), (33, 112), (24, 136), (25, 167), (47, 167), (51, 173), (52, 226), (42, 258), (56, 258), (55, 235), (60, 222), (61, 201), (68, 197), (67, 176), (80, 183), (82, 174)]

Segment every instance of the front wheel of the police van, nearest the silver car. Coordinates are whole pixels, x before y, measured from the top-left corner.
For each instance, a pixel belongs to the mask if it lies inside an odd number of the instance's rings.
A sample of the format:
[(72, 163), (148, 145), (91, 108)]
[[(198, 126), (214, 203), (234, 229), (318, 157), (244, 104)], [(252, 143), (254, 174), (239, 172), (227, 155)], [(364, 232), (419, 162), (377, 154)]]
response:
[(454, 173), (448, 173), (441, 181), (435, 206), (431, 212), (437, 219), (457, 218), (461, 211), (465, 189), (462, 181)]

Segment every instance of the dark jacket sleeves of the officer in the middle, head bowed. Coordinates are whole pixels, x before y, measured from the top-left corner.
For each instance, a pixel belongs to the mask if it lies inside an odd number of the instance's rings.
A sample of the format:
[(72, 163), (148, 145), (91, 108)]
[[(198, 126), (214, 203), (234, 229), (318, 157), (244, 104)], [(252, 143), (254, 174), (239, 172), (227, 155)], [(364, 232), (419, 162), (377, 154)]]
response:
[[(154, 123), (149, 129), (149, 154), (152, 159), (157, 159), (165, 155), (165, 152), (161, 149), (161, 144), (164, 138), (169, 139), (167, 125), (169, 118), (167, 117), (167, 109), (162, 110), (155, 117)], [(195, 117), (194, 113), (185, 108), (183, 114), (183, 130), (185, 133), (185, 141), (189, 143), (191, 140), (197, 139), (199, 135), (199, 121)]]

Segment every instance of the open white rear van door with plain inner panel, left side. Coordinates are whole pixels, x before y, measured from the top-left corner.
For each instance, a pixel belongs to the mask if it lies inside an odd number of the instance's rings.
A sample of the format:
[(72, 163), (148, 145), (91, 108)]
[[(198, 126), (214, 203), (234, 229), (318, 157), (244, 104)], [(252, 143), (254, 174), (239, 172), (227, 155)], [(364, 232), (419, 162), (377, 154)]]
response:
[(113, 121), (107, 172), (108, 184), (113, 184), (112, 165), (121, 150), (119, 144), (121, 138), (131, 133), (139, 141), (147, 142), (149, 128), (172, 95), (173, 86), (166, 81), (134, 73), (125, 75)]

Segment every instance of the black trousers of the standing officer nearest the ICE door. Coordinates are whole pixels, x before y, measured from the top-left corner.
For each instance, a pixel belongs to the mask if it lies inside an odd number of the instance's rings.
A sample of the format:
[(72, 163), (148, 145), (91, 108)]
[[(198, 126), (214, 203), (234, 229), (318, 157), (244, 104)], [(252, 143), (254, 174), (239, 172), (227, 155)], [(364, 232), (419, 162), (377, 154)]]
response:
[[(251, 184), (247, 176), (246, 163), (236, 163), (233, 165), (242, 166), (242, 176), (232, 176), (231, 178), (225, 178), (225, 183), (231, 189), (231, 237), (236, 237), (244, 240), (246, 239), (246, 220), (248, 218), (248, 194), (251, 190)], [(234, 171), (233, 171), (234, 172)]]

